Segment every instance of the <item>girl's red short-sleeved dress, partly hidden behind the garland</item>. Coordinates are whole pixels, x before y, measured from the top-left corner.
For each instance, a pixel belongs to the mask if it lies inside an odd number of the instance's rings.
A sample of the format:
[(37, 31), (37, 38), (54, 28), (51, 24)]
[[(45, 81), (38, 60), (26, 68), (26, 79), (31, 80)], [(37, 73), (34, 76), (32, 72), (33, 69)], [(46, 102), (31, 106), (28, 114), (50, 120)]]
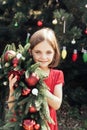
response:
[[(63, 72), (61, 70), (50, 69), (50, 74), (46, 79), (44, 79), (44, 82), (50, 88), (50, 92), (53, 93), (55, 85), (60, 84), (60, 83), (64, 84)], [(50, 130), (58, 130), (56, 110), (54, 110), (51, 107), (49, 107), (49, 109), (50, 109), (51, 118), (55, 122), (55, 125), (49, 124)]]

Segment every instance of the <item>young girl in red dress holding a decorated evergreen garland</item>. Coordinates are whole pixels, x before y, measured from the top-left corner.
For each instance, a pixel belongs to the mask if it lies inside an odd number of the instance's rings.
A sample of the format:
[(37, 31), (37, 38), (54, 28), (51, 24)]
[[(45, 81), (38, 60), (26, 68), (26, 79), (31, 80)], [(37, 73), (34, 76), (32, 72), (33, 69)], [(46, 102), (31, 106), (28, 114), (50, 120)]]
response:
[[(50, 130), (58, 130), (56, 110), (58, 110), (62, 103), (62, 86), (64, 83), (64, 75), (61, 70), (53, 69), (60, 60), (60, 50), (57, 43), (55, 33), (50, 28), (42, 28), (36, 31), (30, 38), (30, 54), (35, 62), (40, 63), (40, 68), (44, 70), (48, 77), (44, 82), (49, 87), (47, 91), (47, 102), (49, 105), (50, 115), (55, 124), (49, 124)], [(9, 77), (10, 94), (8, 101), (14, 100), (12, 93), (13, 87), (17, 81), (17, 77), (11, 75)], [(13, 98), (13, 99), (12, 99)], [(8, 104), (9, 108), (13, 104)]]

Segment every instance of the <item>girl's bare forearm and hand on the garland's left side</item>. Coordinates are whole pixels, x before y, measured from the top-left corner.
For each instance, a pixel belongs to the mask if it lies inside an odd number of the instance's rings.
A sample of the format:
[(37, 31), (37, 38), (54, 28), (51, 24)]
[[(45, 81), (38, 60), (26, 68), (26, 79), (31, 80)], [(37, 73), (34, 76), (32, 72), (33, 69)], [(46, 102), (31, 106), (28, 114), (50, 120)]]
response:
[(8, 107), (11, 109), (14, 106), (14, 84), (17, 81), (17, 76), (13, 77), (13, 74), (9, 77), (9, 97), (8, 97)]

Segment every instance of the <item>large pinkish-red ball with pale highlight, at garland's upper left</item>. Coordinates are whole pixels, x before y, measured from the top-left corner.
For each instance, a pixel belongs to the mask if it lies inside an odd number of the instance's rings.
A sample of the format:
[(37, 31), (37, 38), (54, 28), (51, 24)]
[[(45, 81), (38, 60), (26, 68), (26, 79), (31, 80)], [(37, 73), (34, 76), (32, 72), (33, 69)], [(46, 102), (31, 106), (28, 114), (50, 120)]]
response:
[(8, 62), (9, 60), (11, 60), (12, 58), (14, 58), (15, 56), (16, 56), (16, 52), (15, 51), (8, 50), (4, 54), (4, 60)]

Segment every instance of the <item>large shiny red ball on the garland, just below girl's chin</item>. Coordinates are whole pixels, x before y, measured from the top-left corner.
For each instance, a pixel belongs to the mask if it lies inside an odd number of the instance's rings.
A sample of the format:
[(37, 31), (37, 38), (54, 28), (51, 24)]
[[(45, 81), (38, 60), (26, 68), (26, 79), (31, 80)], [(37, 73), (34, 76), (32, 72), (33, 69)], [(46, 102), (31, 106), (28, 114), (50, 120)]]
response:
[(38, 83), (39, 77), (35, 73), (32, 73), (28, 78), (25, 78), (25, 81), (29, 87), (33, 87)]

